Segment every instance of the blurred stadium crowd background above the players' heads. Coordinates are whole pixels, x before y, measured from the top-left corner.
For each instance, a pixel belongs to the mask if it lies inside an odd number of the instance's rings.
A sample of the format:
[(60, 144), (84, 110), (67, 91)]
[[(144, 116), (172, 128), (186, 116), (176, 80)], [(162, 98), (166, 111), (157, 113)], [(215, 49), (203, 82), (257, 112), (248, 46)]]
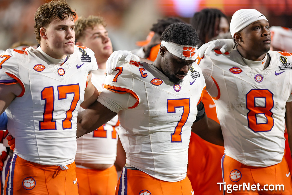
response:
[[(0, 0), (0, 49), (15, 42), (36, 44), (34, 13), (47, 0)], [(263, 13), (270, 26), (292, 27), (292, 0), (67, 0), (77, 15), (100, 15), (107, 22), (114, 50), (133, 50), (145, 40), (157, 19), (169, 16), (186, 23), (195, 12), (217, 8), (227, 15), (238, 9), (253, 8)]]

